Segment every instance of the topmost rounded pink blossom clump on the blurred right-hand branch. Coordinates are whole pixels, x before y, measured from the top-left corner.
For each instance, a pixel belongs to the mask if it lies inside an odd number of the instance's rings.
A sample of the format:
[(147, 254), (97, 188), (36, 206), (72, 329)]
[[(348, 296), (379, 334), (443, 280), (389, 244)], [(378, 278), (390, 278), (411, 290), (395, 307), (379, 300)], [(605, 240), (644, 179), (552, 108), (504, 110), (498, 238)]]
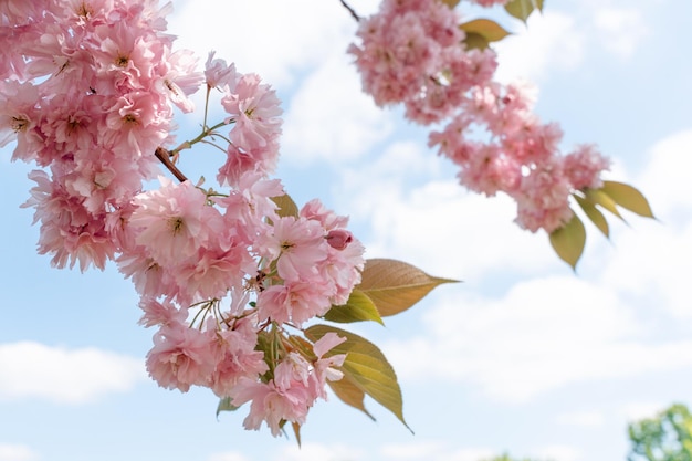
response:
[(496, 67), (493, 53), (460, 46), (459, 20), (438, 0), (385, 0), (357, 35), (361, 44), (348, 52), (364, 90), (380, 106), (402, 103), (406, 116), (424, 125), (451, 116)]

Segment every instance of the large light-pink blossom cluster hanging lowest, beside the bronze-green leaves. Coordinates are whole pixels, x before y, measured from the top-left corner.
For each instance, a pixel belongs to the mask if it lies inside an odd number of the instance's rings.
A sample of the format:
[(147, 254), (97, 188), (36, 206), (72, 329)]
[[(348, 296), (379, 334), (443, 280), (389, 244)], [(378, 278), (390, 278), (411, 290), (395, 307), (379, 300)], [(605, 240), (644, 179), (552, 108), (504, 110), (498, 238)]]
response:
[(305, 421), (345, 359), (324, 356), (344, 338), (325, 335), (311, 349), (291, 329), (345, 304), (364, 264), (346, 218), (318, 200), (282, 217), (272, 200), (282, 193), (258, 172), (223, 196), (164, 180), (135, 198), (132, 245), (117, 261), (141, 295), (141, 323), (158, 327), (154, 379), (209, 387), (234, 406), (252, 400), (245, 427), (266, 421), (274, 434)]

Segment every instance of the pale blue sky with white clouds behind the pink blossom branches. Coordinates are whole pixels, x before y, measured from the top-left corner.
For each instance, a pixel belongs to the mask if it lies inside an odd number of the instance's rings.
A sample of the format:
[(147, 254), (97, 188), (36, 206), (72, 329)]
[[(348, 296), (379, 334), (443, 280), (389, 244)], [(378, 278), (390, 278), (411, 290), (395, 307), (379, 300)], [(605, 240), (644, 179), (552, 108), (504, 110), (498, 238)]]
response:
[[(245, 410), (217, 420), (210, 391), (158, 388), (130, 283), (113, 265), (81, 274), (35, 254), (38, 228), (19, 208), (31, 167), (11, 164), (8, 146), (0, 461), (611, 461), (625, 459), (628, 421), (692, 404), (692, 3), (565, 0), (527, 29), (501, 19), (515, 34), (497, 46), (500, 77), (534, 82), (536, 111), (562, 124), (565, 147), (598, 144), (608, 178), (639, 187), (659, 218), (628, 214), (610, 242), (588, 228), (577, 275), (545, 235), (512, 223), (508, 200), (465, 192), (424, 129), (359, 92), (344, 53), (355, 22), (337, 0), (174, 4), (180, 46), (202, 61), (214, 49), (277, 88), (279, 176), (296, 201), (349, 214), (369, 258), (464, 281), (385, 328), (353, 327), (390, 358), (416, 434), (373, 401), (377, 422), (333, 398), (311, 412), (298, 451), (244, 431)], [(181, 139), (197, 116), (179, 119)], [(188, 176), (213, 176), (216, 154), (185, 155)]]

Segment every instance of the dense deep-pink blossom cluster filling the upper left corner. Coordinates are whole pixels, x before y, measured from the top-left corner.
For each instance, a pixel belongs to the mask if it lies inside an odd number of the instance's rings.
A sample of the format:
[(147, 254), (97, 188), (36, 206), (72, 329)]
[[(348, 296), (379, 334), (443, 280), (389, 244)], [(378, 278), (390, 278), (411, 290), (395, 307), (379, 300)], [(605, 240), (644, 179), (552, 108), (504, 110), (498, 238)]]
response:
[(0, 52), (15, 57), (0, 64), (0, 139), (17, 139), (12, 159), (46, 169), (30, 176), (39, 253), (103, 269), (133, 197), (156, 177), (172, 105), (190, 111), (202, 75), (191, 53), (171, 51), (158, 1), (3, 6)]

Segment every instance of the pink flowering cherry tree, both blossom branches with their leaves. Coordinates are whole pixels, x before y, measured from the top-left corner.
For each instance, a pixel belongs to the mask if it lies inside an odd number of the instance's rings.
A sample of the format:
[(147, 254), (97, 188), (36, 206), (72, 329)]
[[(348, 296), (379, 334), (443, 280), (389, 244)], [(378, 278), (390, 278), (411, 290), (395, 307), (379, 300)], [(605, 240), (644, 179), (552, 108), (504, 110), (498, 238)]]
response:
[[(543, 8), (475, 2), (522, 20)], [(600, 210), (652, 217), (635, 188), (601, 179), (608, 160), (595, 146), (562, 155), (558, 125), (538, 119), (524, 88), (493, 80), (489, 44), (507, 34), (499, 24), (461, 22), (459, 1), (384, 0), (370, 18), (342, 3), (359, 22), (348, 53), (364, 91), (441, 127), (430, 147), (459, 167), (461, 184), (512, 197), (516, 222), (545, 231), (572, 266), (585, 239), (572, 200), (606, 235)], [(170, 10), (157, 0), (0, 3), (0, 146), (15, 143), (12, 159), (38, 167), (23, 206), (35, 209), (39, 253), (82, 271), (115, 261), (140, 295), (141, 325), (156, 328), (149, 375), (169, 389), (210, 388), (219, 411), (249, 404), (248, 429), (265, 422), (276, 436), (290, 423), (300, 441), (327, 386), (366, 413), (370, 396), (405, 422), (385, 356), (334, 323), (382, 323), (453, 281), (366, 261), (347, 218), (318, 199), (298, 207), (271, 178), (275, 92), (213, 52), (199, 69), (166, 33)], [(195, 111), (200, 88), (200, 133), (176, 143), (174, 119)], [(222, 119), (208, 119), (210, 104)], [(178, 166), (200, 146), (223, 153), (212, 186)]]

